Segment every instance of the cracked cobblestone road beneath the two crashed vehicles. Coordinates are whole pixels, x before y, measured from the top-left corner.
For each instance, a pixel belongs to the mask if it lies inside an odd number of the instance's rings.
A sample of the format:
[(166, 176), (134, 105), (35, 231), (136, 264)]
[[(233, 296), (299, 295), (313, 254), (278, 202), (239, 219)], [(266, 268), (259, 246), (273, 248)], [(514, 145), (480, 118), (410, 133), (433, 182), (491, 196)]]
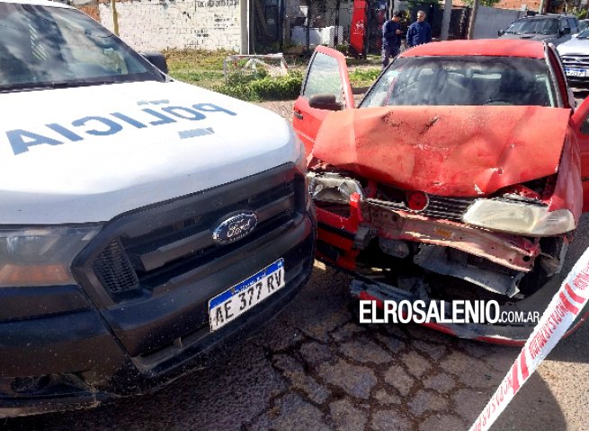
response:
[[(290, 106), (275, 110), (290, 112)], [(569, 249), (567, 268), (589, 244), (586, 222)], [(518, 350), (416, 325), (360, 325), (349, 282), (317, 263), (308, 286), (278, 319), (214, 365), (154, 394), (94, 410), (6, 420), (0, 429), (468, 428)], [(540, 366), (493, 429), (589, 429), (588, 347), (585, 325)]]

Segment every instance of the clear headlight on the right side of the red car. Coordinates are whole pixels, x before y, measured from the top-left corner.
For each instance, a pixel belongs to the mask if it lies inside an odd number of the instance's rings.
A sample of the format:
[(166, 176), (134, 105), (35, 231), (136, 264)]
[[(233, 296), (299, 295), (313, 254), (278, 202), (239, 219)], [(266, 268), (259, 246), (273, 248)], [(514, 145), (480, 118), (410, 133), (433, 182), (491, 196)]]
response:
[(549, 211), (548, 207), (522, 202), (478, 199), (462, 221), (493, 231), (529, 236), (552, 236), (575, 229), (575, 217), (568, 209)]

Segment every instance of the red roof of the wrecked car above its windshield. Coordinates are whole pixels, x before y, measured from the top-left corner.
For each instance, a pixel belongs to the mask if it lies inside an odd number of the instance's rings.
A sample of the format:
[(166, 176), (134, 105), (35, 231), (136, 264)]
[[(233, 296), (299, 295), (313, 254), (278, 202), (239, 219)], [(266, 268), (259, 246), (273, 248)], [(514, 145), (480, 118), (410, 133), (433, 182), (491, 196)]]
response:
[(510, 39), (448, 40), (407, 49), (400, 57), (422, 56), (544, 58), (544, 43), (537, 40)]

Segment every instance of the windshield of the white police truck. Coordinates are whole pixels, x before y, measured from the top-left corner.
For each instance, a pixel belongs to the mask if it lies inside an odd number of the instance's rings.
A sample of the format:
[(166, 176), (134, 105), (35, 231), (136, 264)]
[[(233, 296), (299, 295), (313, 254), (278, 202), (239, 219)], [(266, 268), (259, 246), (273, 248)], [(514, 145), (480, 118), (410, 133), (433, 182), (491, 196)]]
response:
[(0, 40), (0, 91), (165, 80), (76, 9), (0, 3)]

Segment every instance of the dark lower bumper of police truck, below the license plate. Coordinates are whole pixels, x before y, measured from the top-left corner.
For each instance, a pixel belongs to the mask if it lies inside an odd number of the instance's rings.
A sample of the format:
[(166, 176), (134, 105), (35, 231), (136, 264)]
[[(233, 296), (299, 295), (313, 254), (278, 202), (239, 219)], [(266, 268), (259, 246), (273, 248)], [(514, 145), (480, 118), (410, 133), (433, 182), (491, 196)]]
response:
[[(192, 343), (188, 339), (186, 345), (170, 347), (174, 352), (165, 352), (165, 361), (149, 370), (143, 358), (128, 355), (92, 308), (0, 323), (0, 418), (87, 409), (151, 391), (207, 364), (225, 347), (234, 349), (271, 321), (307, 283), (315, 242), (310, 218), (300, 240), (294, 249), (304, 250), (305, 259), (278, 293), (221, 330), (211, 333), (207, 328)], [(272, 250), (266, 252), (274, 255)], [(157, 326), (158, 321), (150, 324)]]

